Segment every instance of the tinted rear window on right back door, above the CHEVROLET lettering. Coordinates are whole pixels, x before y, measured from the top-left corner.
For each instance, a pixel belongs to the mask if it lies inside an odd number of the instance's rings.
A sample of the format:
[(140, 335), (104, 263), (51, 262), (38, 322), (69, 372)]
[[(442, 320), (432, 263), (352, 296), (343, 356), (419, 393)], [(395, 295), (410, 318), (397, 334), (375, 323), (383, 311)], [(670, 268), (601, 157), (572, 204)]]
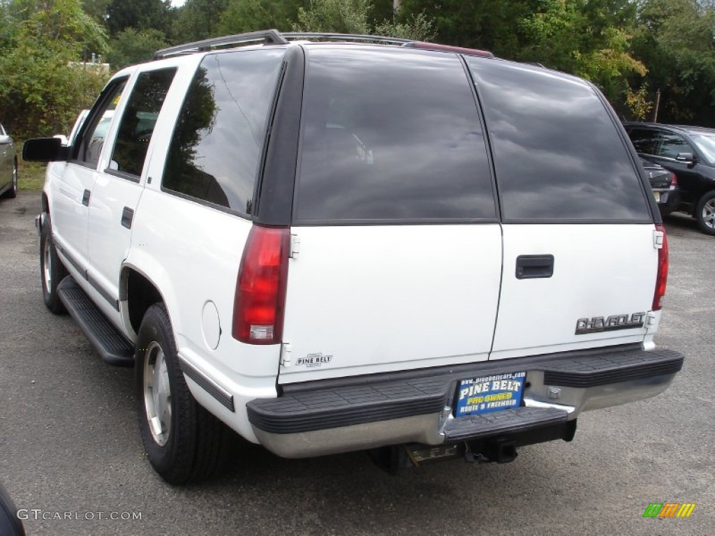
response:
[(547, 69), (467, 61), (505, 221), (651, 221), (635, 164), (591, 87)]

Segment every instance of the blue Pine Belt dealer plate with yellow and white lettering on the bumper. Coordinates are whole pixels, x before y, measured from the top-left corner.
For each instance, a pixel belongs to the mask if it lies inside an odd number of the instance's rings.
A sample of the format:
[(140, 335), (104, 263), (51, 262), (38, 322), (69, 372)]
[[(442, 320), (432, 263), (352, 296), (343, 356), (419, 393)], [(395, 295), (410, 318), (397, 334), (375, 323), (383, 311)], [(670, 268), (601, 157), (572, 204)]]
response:
[(511, 372), (460, 380), (454, 416), (465, 417), (521, 406), (525, 378), (526, 372)]

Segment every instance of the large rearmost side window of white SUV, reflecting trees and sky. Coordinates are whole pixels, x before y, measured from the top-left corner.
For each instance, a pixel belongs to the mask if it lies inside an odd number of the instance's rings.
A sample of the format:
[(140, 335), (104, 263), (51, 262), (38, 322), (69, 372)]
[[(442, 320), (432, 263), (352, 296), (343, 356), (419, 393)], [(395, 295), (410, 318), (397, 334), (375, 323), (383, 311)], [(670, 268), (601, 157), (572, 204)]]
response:
[(283, 49), (206, 56), (179, 114), (162, 186), (250, 214)]

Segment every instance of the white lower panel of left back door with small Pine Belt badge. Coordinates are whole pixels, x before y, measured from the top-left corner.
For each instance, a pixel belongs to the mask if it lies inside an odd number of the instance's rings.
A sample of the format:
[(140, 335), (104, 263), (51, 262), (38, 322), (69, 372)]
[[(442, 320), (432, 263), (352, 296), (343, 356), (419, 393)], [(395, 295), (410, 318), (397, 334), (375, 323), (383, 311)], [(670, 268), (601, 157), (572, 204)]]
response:
[(292, 233), (281, 384), (488, 358), (498, 224)]

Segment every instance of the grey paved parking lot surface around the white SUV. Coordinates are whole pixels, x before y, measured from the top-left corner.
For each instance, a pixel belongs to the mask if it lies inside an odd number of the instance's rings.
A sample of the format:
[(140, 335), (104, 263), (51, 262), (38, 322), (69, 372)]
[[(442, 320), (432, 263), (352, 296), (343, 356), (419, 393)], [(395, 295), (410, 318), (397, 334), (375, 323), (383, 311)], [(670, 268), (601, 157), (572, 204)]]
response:
[[(0, 200), (0, 482), (28, 535), (715, 532), (715, 238), (687, 217), (666, 221), (656, 339), (686, 364), (659, 397), (588, 412), (573, 442), (523, 448), (507, 465), (452, 460), (391, 477), (362, 453), (282, 460), (240, 444), (223, 475), (174, 488), (144, 456), (132, 370), (104, 364), (42, 303), (39, 209), (39, 192)], [(688, 519), (644, 519), (651, 502), (697, 506)]]

